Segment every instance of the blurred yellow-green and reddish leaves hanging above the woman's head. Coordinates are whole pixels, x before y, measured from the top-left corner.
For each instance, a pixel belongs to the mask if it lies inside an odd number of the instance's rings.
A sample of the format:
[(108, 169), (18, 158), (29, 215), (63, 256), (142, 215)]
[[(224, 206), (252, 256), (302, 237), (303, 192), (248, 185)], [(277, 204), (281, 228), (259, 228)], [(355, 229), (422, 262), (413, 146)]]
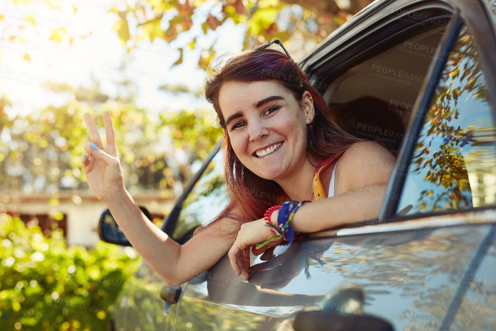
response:
[[(183, 3), (184, 2), (184, 3)], [(135, 47), (132, 41), (156, 38), (170, 43), (174, 39), (189, 40), (189, 49), (195, 49), (196, 39), (215, 31), (218, 26), (231, 21), (245, 25), (243, 50), (249, 50), (273, 39), (283, 43), (290, 38), (321, 42), (332, 31), (339, 28), (371, 0), (226, 0), (226, 1), (178, 1), (146, 0), (134, 5), (117, 3), (110, 12), (119, 20), (114, 25), (123, 45), (130, 51)], [(213, 5), (212, 5), (213, 3)], [(221, 4), (221, 6), (219, 5)], [(220, 7), (220, 8), (219, 8)], [(220, 12), (219, 10), (220, 9)], [(200, 32), (191, 33), (192, 16), (202, 13)], [(139, 29), (130, 29), (131, 21), (138, 21)], [(136, 31), (133, 35), (130, 31)], [(215, 41), (214, 41), (215, 44)], [(208, 50), (198, 49), (201, 54), (198, 66), (205, 69), (215, 57), (214, 44)], [(181, 57), (173, 66), (182, 63)]]

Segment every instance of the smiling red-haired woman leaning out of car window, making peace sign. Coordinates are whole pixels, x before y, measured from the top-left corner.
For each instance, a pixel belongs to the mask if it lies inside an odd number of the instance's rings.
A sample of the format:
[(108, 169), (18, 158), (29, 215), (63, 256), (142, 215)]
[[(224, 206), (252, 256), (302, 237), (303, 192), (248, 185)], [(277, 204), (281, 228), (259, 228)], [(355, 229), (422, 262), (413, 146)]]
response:
[[(322, 96), (288, 55), (273, 49), (244, 52), (214, 68), (205, 96), (224, 131), (224, 180), (231, 202), (184, 245), (153, 225), (124, 189), (110, 113), (103, 114), (105, 147), (93, 118), (84, 114), (92, 141), (84, 143), (82, 157), (89, 186), (166, 283), (179, 285), (196, 277), (197, 270), (211, 268), (225, 247), (236, 274), (248, 280), (250, 247), (274, 235), (264, 213), (284, 201), (312, 201), (292, 216), (290, 225), (300, 233), (378, 216), (392, 171), (385, 165), (394, 157), (338, 128)], [(278, 213), (270, 214), (275, 228), (280, 228)], [(258, 255), (278, 244), (284, 240), (251, 251)]]

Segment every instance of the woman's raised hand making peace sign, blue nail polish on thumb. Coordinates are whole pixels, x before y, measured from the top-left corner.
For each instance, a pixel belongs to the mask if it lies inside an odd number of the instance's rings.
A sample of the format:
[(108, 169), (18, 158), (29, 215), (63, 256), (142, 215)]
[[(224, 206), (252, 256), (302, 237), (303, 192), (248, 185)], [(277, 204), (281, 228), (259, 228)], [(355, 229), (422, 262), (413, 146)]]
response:
[[(83, 144), (86, 155), (81, 158), (84, 174), (90, 189), (106, 203), (119, 194), (124, 195), (124, 176), (117, 151), (114, 124), (109, 112), (103, 113), (107, 146), (104, 148), (95, 121), (89, 113), (83, 115), (90, 139)], [(95, 150), (92, 146), (95, 146)]]

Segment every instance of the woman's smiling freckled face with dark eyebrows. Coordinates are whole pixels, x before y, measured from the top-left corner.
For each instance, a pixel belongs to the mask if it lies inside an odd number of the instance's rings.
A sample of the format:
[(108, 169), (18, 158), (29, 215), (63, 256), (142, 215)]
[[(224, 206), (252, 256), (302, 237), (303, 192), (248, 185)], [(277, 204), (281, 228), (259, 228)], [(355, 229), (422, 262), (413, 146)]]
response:
[(314, 115), (309, 97), (305, 91), (300, 103), (277, 81), (222, 85), (219, 105), (226, 132), (245, 167), (270, 180), (302, 169), (307, 162), (307, 125)]

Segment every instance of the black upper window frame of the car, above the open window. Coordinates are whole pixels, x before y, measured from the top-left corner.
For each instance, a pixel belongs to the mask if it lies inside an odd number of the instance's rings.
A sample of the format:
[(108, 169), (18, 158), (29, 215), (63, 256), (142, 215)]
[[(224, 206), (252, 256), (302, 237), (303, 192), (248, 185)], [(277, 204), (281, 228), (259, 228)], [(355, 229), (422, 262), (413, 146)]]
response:
[[(412, 13), (430, 12), (429, 17), (451, 19), (455, 8), (444, 1), (429, 3), (407, 3), (399, 6), (384, 3), (373, 13), (357, 15), (346, 23), (347, 28), (338, 29), (330, 34), (315, 50), (301, 60), (302, 69), (309, 74), (310, 82), (319, 92), (324, 88), (315, 82), (334, 80), (349, 68), (356, 66), (384, 52), (410, 37), (431, 29), (435, 24), (424, 28), (412, 22), (405, 23), (405, 17)], [(400, 14), (394, 15), (395, 12)], [(427, 17), (428, 14), (425, 14)], [(391, 16), (391, 17), (388, 17)], [(422, 22), (422, 21), (419, 21)], [(358, 29), (358, 31), (356, 31)], [(355, 33), (354, 33), (355, 32)], [(332, 52), (330, 52), (332, 50)]]

